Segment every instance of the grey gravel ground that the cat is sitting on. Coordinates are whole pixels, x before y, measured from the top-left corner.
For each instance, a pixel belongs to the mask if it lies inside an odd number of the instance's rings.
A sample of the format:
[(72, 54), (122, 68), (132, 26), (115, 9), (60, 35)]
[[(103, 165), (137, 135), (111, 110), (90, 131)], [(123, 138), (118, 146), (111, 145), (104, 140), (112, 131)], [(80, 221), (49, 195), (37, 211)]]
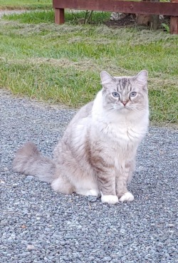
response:
[(51, 156), (75, 110), (0, 94), (1, 263), (176, 263), (177, 130), (150, 127), (137, 155), (130, 203), (62, 195), (12, 170), (28, 140)]

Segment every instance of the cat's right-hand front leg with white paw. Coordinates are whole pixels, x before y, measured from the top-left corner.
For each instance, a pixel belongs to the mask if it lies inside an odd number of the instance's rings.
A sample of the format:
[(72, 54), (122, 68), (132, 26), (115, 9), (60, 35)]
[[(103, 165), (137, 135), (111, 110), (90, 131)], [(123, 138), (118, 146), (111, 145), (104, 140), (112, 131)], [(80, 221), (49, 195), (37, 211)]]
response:
[(116, 194), (120, 198), (120, 202), (132, 201), (134, 196), (127, 190), (127, 182), (132, 178), (132, 171), (135, 167), (135, 162), (126, 162), (120, 172), (116, 176)]

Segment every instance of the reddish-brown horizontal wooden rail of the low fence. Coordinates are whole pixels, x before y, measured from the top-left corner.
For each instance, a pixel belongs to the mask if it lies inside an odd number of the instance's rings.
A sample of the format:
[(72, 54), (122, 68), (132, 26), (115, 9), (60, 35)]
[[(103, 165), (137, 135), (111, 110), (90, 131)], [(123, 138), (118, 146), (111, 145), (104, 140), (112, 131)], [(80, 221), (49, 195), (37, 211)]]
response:
[(117, 0), (53, 0), (57, 9), (114, 11), (130, 14), (162, 14), (178, 16), (178, 4), (168, 2), (117, 1)]

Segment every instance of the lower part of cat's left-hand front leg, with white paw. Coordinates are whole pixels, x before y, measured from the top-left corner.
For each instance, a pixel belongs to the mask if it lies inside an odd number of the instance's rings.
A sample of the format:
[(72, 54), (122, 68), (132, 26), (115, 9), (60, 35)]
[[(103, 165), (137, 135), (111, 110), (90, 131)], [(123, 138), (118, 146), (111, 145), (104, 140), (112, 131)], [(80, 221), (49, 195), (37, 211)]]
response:
[(106, 202), (108, 204), (116, 204), (119, 202), (115, 192), (115, 172), (98, 172), (98, 183), (102, 202)]

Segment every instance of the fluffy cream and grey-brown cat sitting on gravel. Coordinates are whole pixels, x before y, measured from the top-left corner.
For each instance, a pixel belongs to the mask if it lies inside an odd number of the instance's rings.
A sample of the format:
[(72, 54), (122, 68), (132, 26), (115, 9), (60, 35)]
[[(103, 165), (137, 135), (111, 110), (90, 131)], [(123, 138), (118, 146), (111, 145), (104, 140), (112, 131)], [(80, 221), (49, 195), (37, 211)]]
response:
[(80, 108), (53, 151), (43, 157), (33, 143), (16, 152), (14, 170), (36, 175), (63, 194), (101, 196), (108, 204), (132, 201), (127, 182), (147, 132), (147, 71), (137, 76), (100, 73), (102, 89)]

